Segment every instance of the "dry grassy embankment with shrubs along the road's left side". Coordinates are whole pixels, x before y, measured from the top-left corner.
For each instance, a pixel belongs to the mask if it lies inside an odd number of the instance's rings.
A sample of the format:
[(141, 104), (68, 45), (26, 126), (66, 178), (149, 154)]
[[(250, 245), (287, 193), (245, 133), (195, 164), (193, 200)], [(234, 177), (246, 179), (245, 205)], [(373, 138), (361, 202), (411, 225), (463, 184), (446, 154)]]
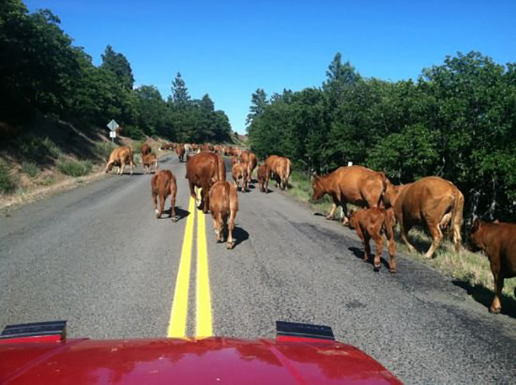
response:
[[(106, 130), (81, 131), (69, 123), (38, 117), (0, 145), (0, 209), (11, 210), (53, 194), (103, 177), (105, 161), (117, 145), (131, 145), (134, 162), (141, 164), (143, 141), (117, 138), (111, 143)], [(159, 155), (164, 140), (147, 138)]]

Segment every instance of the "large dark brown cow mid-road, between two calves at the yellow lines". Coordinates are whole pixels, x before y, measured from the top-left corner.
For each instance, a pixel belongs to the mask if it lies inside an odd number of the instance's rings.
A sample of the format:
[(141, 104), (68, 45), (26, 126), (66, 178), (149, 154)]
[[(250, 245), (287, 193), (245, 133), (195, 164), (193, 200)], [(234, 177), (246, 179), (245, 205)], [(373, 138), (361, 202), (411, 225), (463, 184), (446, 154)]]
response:
[[(202, 211), (210, 208), (210, 187), (214, 182), (226, 180), (226, 166), (224, 160), (212, 152), (200, 152), (186, 162), (186, 178), (190, 186), (190, 196), (195, 199), (197, 207), (202, 205)], [(200, 201), (195, 195), (195, 187), (202, 189)]]

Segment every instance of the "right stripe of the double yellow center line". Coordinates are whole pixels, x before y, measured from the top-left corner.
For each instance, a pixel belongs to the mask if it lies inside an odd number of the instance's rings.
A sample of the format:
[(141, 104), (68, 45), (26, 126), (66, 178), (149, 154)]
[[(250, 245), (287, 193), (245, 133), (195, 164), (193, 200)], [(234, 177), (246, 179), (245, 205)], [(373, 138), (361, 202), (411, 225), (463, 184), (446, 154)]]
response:
[(197, 294), (195, 336), (211, 337), (212, 328), (212, 299), (210, 295), (210, 274), (208, 272), (208, 252), (206, 245), (205, 214), (197, 217)]

